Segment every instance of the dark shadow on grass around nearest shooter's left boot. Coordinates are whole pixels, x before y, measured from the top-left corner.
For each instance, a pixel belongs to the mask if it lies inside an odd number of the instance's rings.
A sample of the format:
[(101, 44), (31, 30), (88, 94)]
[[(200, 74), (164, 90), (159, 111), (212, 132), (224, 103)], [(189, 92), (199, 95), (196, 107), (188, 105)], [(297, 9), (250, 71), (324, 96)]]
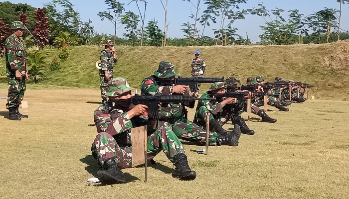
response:
[[(95, 178), (97, 178), (97, 171), (101, 170), (102, 168), (98, 165), (97, 161), (93, 158), (92, 155), (87, 155), (84, 158), (80, 159), (80, 162), (87, 164), (88, 166), (85, 167), (85, 170), (92, 174)], [(132, 176), (129, 173), (123, 174), (126, 180), (126, 183), (132, 182), (132, 181), (140, 181), (139, 178)], [(105, 186), (106, 184), (100, 184), (95, 186)]]

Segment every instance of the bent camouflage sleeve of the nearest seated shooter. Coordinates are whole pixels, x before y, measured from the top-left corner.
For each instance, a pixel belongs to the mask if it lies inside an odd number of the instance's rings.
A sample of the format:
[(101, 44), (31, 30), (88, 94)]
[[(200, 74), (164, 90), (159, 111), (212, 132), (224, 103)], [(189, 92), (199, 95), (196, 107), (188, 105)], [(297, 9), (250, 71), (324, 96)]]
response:
[(112, 120), (110, 114), (107, 114), (101, 108), (97, 108), (94, 112), (94, 122), (98, 133), (106, 132), (111, 135), (116, 135), (133, 128), (127, 112), (122, 113), (119, 117)]

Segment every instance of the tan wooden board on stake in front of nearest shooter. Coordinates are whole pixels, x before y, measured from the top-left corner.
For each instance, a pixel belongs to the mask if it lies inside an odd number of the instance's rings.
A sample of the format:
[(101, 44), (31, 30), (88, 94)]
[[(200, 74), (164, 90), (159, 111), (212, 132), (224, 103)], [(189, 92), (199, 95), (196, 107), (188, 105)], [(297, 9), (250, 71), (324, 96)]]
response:
[(145, 151), (147, 151), (147, 126), (131, 129), (132, 139), (132, 167), (146, 163)]

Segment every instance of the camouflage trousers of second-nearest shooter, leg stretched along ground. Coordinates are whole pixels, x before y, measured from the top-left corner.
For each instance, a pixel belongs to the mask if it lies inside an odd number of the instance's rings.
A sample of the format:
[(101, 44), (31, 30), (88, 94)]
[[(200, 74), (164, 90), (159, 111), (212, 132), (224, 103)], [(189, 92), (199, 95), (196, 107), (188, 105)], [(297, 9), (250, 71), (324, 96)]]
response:
[[(174, 134), (182, 140), (194, 142), (199, 145), (206, 144), (206, 130), (189, 120), (185, 117), (177, 119), (172, 125)], [(208, 144), (210, 146), (216, 145), (217, 134), (215, 132), (208, 133)]]

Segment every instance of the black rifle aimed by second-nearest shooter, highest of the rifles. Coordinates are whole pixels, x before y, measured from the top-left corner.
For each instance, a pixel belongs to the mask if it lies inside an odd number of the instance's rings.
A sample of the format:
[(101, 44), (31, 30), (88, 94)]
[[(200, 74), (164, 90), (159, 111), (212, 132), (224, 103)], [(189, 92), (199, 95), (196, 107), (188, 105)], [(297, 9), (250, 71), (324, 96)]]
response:
[(172, 81), (159, 81), (157, 82), (157, 84), (159, 84), (160, 86), (169, 86), (169, 85), (186, 85), (189, 86), (190, 88), (190, 92), (192, 93), (196, 93), (197, 89), (196, 89), (196, 85), (197, 84), (201, 84), (201, 83), (215, 83), (215, 82), (236, 82), (239, 83), (240, 80), (224, 80), (224, 77), (222, 78), (195, 78), (195, 77), (191, 77), (191, 78), (182, 78), (182, 77), (178, 77), (175, 78)]

